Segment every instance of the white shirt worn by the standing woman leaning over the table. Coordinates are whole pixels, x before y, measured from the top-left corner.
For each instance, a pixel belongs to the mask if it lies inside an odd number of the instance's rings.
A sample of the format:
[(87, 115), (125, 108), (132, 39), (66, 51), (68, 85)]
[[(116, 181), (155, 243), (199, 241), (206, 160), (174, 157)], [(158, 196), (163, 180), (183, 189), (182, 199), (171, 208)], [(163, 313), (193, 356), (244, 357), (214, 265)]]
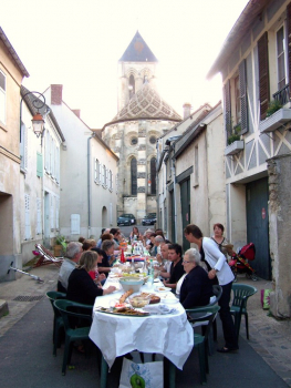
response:
[(235, 279), (235, 276), (227, 264), (226, 256), (219, 251), (218, 245), (211, 238), (202, 238), (205, 259), (211, 268), (216, 269), (216, 276), (220, 286), (225, 286)]

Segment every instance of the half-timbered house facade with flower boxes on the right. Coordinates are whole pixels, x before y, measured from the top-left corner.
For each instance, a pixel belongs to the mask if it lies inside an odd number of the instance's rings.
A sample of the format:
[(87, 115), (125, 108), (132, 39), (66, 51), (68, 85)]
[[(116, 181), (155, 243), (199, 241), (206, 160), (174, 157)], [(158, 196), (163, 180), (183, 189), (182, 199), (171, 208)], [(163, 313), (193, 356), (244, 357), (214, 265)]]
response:
[(279, 166), (291, 151), (290, 32), (290, 1), (249, 1), (208, 73), (220, 72), (224, 80), (229, 239), (236, 246), (254, 243), (252, 266), (272, 278), (271, 309), (281, 317), (291, 315), (291, 268), (282, 244), (291, 224), (280, 202), (285, 187), (290, 203), (290, 180), (278, 191), (284, 180)]

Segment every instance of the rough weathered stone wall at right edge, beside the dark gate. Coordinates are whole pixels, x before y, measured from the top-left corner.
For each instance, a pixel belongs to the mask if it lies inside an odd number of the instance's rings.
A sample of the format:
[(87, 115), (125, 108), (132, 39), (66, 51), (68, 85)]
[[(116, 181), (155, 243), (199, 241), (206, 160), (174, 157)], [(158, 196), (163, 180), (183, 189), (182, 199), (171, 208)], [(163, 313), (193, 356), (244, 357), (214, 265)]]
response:
[(291, 317), (291, 155), (274, 156), (268, 162), (269, 227), (273, 293), (271, 313), (278, 318)]

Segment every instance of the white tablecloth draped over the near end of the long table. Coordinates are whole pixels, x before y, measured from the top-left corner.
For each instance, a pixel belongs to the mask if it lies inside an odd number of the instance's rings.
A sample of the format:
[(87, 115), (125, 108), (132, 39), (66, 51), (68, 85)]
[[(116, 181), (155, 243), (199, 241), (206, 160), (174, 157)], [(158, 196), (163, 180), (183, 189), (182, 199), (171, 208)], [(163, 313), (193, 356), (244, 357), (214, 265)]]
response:
[[(142, 287), (142, 292), (148, 290), (146, 286)], [(96, 312), (96, 307), (108, 307), (110, 302), (118, 299), (122, 294), (123, 292), (118, 292), (97, 297), (93, 309), (90, 338), (101, 349), (110, 368), (116, 357), (136, 349), (143, 353), (162, 354), (181, 369), (194, 345), (193, 328), (187, 320), (184, 307), (177, 302), (167, 305), (175, 308), (177, 313), (147, 317)], [(165, 296), (165, 294), (156, 294)], [(174, 298), (174, 295), (169, 294), (167, 297)]]

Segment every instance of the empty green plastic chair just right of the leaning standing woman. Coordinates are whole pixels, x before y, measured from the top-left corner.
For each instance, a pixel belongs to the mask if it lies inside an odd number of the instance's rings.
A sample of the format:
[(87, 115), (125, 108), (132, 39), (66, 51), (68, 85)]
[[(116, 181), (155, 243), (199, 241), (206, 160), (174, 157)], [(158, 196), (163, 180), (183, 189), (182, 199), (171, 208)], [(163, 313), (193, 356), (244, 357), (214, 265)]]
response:
[(258, 289), (247, 284), (232, 284), (233, 300), (230, 307), (231, 315), (235, 316), (235, 329), (237, 338), (239, 338), (241, 315), (245, 315), (247, 338), (249, 339), (249, 318), (247, 312), (247, 302), (250, 296), (256, 294)]

